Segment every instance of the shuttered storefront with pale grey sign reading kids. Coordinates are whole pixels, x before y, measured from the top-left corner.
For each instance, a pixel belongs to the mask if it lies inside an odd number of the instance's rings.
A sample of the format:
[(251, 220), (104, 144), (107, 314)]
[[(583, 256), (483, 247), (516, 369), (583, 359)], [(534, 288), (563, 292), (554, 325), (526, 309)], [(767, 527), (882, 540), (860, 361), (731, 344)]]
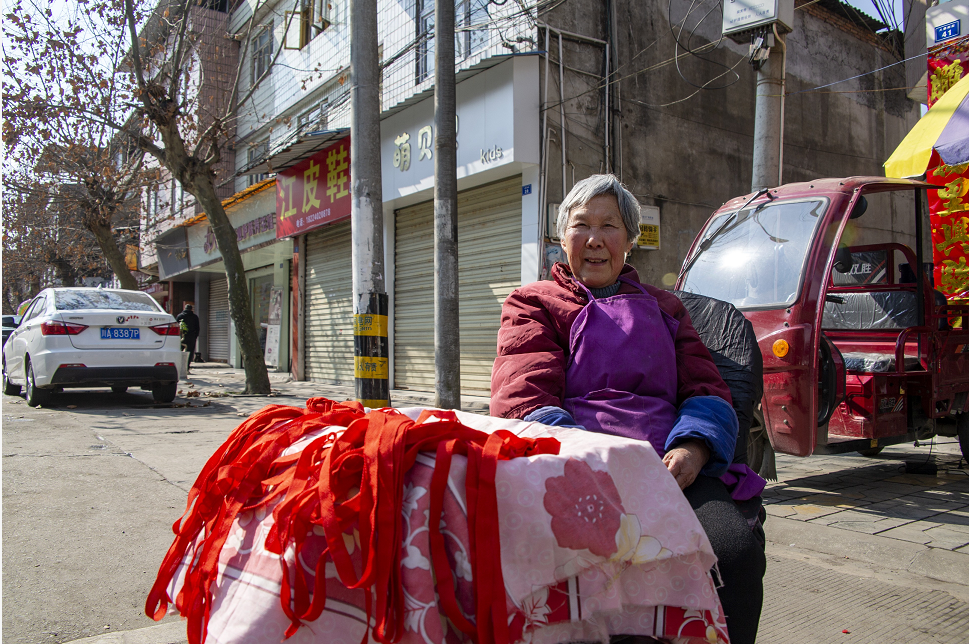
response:
[[(537, 87), (537, 60), (528, 57), (457, 85), (465, 393), (489, 393), (501, 305), (523, 282), (538, 279)], [(394, 231), (391, 382), (419, 391), (434, 389), (433, 121), (433, 100), (427, 99), (381, 126), (384, 221), (392, 221)]]

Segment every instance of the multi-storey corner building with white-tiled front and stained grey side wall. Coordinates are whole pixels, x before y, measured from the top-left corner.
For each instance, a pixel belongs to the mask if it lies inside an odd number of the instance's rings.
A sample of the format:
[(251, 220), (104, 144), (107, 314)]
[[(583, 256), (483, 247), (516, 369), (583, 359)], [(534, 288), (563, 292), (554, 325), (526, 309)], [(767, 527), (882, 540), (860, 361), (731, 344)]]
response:
[[(232, 189), (241, 197), (275, 175), (280, 245), (264, 270), (274, 288), (289, 286), (279, 368), (333, 383), (353, 379), (349, 183), (340, 166), (349, 147), (348, 2), (306, 0), (294, 12), (291, 2), (242, 0), (227, 26), (242, 43), (240, 90), (270, 70), (236, 123)], [(561, 257), (549, 213), (576, 181), (615, 172), (649, 207), (658, 239), (629, 261), (666, 286), (713, 210), (750, 190), (756, 74), (748, 45), (721, 40), (719, 19), (702, 19), (710, 7), (512, 4), (457, 3), (467, 393), (488, 392), (506, 295)], [(378, 17), (391, 386), (430, 390), (433, 0), (379, 0)], [(919, 114), (898, 64), (901, 35), (838, 0), (798, 2), (792, 27), (782, 180), (882, 174)], [(874, 206), (856, 243), (914, 241), (906, 204)]]

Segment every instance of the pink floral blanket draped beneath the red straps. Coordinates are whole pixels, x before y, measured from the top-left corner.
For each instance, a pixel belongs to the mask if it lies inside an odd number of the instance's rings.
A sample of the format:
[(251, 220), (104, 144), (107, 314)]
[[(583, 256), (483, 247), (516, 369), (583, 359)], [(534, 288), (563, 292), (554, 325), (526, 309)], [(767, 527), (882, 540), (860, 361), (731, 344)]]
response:
[[(422, 409), (402, 411), (416, 419)], [(513, 641), (607, 642), (610, 635), (631, 634), (678, 643), (728, 642), (710, 575), (716, 562), (710, 543), (648, 443), (462, 412), (457, 415), (463, 424), (480, 431), (506, 429), (523, 437), (551, 436), (561, 442), (558, 455), (498, 463), (500, 565)], [(343, 429), (319, 430), (287, 453), (301, 451), (321, 434)], [(459, 605), (473, 620), (465, 464), (463, 457), (455, 456), (441, 531), (447, 540)], [(403, 644), (469, 641), (438, 612), (427, 526), (433, 468), (433, 455), (421, 456), (406, 478), (401, 517), (401, 579), (406, 602)], [(279, 599), (282, 568), (279, 556), (264, 547), (272, 522), (270, 506), (245, 512), (233, 524), (219, 560), (206, 642), (283, 641), (289, 620)], [(315, 570), (325, 548), (321, 534), (314, 539), (307, 541), (300, 554), (299, 563), (308, 574)], [(359, 542), (355, 546), (359, 549)], [(292, 561), (292, 549), (284, 556)], [(346, 589), (332, 562), (326, 569), (324, 613), (316, 621), (304, 623), (287, 641), (360, 644), (368, 630), (363, 591)], [(180, 570), (169, 587), (171, 597), (181, 583)]]

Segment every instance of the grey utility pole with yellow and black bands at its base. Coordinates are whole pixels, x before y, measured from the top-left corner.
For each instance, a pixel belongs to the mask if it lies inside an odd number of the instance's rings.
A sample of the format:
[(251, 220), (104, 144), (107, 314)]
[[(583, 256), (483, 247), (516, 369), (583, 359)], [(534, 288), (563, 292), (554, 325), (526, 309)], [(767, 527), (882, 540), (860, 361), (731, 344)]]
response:
[(377, 0), (354, 0), (350, 3), (353, 374), (356, 399), (366, 407), (390, 406), (380, 175), (380, 73)]

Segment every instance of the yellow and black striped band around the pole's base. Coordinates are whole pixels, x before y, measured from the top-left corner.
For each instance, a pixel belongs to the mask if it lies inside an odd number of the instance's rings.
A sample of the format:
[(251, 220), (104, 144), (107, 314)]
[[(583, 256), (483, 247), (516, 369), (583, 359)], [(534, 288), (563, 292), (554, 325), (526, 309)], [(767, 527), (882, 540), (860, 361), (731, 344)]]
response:
[(364, 313), (353, 316), (353, 376), (364, 407), (390, 407), (387, 294), (370, 293)]

